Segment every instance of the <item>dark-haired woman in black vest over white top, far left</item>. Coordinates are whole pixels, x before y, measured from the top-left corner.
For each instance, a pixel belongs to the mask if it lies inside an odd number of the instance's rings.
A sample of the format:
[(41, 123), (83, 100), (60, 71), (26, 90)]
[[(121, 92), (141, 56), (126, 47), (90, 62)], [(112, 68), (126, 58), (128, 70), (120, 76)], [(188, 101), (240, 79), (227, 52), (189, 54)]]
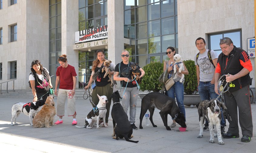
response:
[(31, 63), (29, 82), (34, 95), (33, 101), (38, 101), (41, 97), (43, 101), (46, 101), (49, 96), (49, 88), (52, 88), (52, 82), (48, 70), (43, 67), (38, 59)]

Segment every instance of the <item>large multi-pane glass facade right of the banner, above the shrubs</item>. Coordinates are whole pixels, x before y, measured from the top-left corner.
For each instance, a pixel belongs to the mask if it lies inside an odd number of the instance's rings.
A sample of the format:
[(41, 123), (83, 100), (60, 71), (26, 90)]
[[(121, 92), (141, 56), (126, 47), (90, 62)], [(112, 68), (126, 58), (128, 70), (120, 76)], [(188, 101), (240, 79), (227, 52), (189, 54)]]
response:
[(168, 46), (178, 48), (177, 0), (123, 2), (124, 38), (133, 42), (124, 46), (129, 50), (129, 60), (140, 63), (140, 67), (153, 61), (163, 62)]

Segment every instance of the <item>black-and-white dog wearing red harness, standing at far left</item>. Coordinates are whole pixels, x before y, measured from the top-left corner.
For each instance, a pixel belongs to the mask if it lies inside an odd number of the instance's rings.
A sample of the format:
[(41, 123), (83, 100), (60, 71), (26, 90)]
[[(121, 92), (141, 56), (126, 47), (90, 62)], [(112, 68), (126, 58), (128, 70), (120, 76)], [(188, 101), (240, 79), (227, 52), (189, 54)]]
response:
[(30, 125), (33, 126), (33, 123), (32, 123), (33, 118), (35, 117), (35, 114), (37, 113), (38, 108), (44, 104), (45, 104), (45, 101), (43, 100), (29, 102), (29, 103), (23, 103), (23, 102), (15, 103), (12, 106), (11, 125), (14, 126), (12, 124), (13, 121), (15, 125), (18, 124), (16, 123), (16, 118), (20, 115), (21, 112), (23, 112), (23, 114), (29, 116)]

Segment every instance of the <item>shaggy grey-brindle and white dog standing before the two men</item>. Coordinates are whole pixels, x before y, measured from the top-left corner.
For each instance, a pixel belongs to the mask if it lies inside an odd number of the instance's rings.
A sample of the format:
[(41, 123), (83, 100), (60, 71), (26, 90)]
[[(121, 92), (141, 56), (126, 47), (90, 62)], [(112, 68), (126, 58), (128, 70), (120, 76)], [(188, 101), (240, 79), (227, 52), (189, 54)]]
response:
[[(210, 143), (214, 143), (214, 137), (218, 137), (220, 145), (224, 145), (224, 142), (221, 139), (221, 107), (223, 110), (227, 110), (224, 104), (222, 104), (217, 99), (203, 100), (197, 105), (198, 115), (199, 115), (199, 125), (200, 132), (197, 138), (203, 137), (203, 123), (204, 118), (207, 118), (209, 122), (209, 131), (210, 131)], [(213, 125), (217, 128), (217, 135), (213, 132)]]

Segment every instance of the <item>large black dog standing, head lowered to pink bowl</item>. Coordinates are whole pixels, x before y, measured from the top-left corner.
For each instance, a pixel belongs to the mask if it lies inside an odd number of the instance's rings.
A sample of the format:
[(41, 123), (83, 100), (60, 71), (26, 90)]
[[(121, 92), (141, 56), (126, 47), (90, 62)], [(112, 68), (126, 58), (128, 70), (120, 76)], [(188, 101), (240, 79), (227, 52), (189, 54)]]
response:
[(167, 125), (167, 115), (171, 115), (172, 118), (183, 128), (186, 128), (184, 114), (180, 112), (175, 99), (168, 97), (167, 95), (161, 94), (160, 92), (150, 92), (141, 100), (141, 110), (140, 110), (140, 129), (143, 116), (146, 114), (147, 110), (150, 112), (149, 120), (151, 121), (153, 127), (157, 127), (153, 123), (153, 114), (155, 107), (160, 110), (159, 114), (163, 120), (163, 125), (167, 130), (171, 128)]

